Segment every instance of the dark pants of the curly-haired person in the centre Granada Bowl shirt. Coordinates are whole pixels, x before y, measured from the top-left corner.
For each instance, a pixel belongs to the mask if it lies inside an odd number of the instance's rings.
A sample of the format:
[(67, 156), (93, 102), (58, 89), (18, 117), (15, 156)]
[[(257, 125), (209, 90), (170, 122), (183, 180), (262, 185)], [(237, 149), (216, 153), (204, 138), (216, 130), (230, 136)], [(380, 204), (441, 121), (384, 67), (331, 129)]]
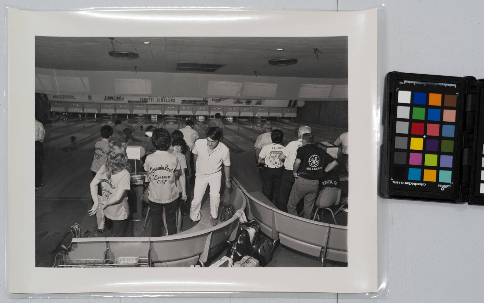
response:
[(163, 226), (163, 207), (165, 207), (165, 220), (166, 227), (168, 228), (168, 234), (170, 235), (177, 233), (177, 200), (165, 204), (154, 203), (153, 201), (148, 200), (151, 213), (152, 237), (159, 237), (163, 235), (161, 233), (161, 227)]

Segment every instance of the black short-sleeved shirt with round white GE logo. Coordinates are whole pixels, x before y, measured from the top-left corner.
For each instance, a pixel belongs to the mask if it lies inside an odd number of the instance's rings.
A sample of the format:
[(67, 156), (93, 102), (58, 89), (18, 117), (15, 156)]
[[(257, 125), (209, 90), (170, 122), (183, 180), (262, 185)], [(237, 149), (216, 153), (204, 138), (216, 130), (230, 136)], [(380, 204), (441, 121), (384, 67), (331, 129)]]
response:
[(309, 180), (321, 179), (326, 165), (334, 161), (332, 156), (315, 144), (306, 144), (298, 148), (296, 159), (301, 160), (298, 170), (301, 173), (300, 177)]

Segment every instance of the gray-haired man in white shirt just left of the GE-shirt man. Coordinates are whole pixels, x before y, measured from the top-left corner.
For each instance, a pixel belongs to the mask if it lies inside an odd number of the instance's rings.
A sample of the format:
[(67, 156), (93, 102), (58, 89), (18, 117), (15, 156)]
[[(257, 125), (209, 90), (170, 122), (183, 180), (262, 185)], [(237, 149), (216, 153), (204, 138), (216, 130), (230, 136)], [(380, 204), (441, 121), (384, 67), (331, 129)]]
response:
[(279, 191), (279, 201), (276, 205), (282, 211), (287, 212), (287, 202), (291, 194), (292, 185), (294, 185), (295, 178), (292, 175), (294, 161), (296, 160), (296, 151), (302, 146), (302, 135), (311, 132), (311, 127), (303, 125), (298, 130), (298, 140), (289, 142), (279, 155), (279, 160), (286, 160), (284, 162), (284, 172), (281, 179), (281, 190)]

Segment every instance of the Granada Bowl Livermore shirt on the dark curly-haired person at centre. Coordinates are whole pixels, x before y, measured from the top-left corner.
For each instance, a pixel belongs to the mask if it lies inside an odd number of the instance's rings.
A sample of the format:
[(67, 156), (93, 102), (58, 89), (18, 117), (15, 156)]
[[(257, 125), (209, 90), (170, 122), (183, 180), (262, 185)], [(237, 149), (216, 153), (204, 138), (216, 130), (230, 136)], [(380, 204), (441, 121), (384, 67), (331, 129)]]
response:
[(176, 155), (166, 151), (153, 152), (146, 157), (143, 167), (150, 179), (150, 201), (165, 204), (178, 198), (175, 172), (181, 166)]

